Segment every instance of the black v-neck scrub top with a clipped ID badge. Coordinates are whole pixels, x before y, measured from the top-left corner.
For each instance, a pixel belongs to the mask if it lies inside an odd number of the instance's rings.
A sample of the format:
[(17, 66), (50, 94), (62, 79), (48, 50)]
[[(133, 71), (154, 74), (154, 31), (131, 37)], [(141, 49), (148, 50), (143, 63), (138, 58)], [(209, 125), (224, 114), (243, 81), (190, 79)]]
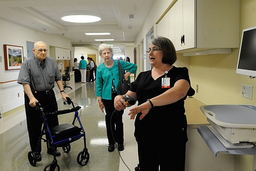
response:
[[(137, 93), (138, 105), (169, 90), (180, 79), (185, 79), (190, 84), (189, 73), (186, 67), (173, 67), (168, 71), (167, 77), (170, 78), (170, 88), (162, 88), (162, 78), (164, 77), (165, 74), (154, 80), (151, 76), (151, 70), (141, 72), (137, 76), (136, 80), (131, 83), (130, 90)], [(186, 97), (187, 95), (172, 104), (151, 108), (142, 120), (139, 119), (141, 112), (138, 113), (134, 123), (134, 136), (136, 140), (150, 140), (150, 142), (152, 140), (157, 142), (160, 140), (177, 140), (186, 142), (188, 140), (184, 107)]]

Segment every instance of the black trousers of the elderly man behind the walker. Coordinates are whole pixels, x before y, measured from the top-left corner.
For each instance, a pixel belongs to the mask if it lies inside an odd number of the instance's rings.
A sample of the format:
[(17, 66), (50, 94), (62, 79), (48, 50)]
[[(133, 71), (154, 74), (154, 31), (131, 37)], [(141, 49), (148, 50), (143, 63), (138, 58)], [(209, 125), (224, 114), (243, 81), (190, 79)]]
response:
[[(44, 109), (44, 112), (55, 112), (58, 110), (58, 104), (55, 98), (54, 91), (51, 90), (50, 94), (36, 94), (33, 93), (35, 98), (41, 104)], [(29, 132), (29, 143), (32, 151), (36, 151), (38, 146), (39, 137), (42, 131), (43, 119), (40, 112), (35, 111), (35, 107), (29, 106), (29, 97), (24, 93), (25, 98), (25, 110), (26, 110), (26, 122), (27, 129)], [(47, 123), (49, 127), (58, 125), (58, 116), (48, 115)], [(41, 152), (41, 143), (39, 143), (38, 152)], [(47, 146), (48, 147), (48, 146)]]

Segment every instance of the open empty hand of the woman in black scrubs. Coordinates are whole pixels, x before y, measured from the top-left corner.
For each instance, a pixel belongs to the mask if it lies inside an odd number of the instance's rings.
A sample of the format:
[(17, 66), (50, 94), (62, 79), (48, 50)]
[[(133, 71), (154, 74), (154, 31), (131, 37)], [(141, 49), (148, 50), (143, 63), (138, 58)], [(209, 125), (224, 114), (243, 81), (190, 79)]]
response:
[(134, 119), (135, 116), (138, 114), (138, 113), (142, 113), (142, 115), (140, 115), (140, 120), (142, 120), (145, 115), (148, 114), (148, 111), (151, 109), (151, 104), (146, 101), (145, 103), (137, 106), (137, 107), (134, 107), (132, 109), (130, 109), (130, 112), (128, 113), (128, 115), (130, 115), (130, 119)]

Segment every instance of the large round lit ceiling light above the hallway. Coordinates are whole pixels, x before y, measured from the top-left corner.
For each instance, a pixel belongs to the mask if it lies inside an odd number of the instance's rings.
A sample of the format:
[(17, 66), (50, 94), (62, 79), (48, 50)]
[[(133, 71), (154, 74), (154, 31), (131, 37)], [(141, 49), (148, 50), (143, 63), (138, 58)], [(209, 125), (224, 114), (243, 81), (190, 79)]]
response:
[(63, 13), (61, 16), (61, 20), (67, 22), (86, 23), (97, 22), (101, 20), (100, 14), (92, 12), (88, 13), (86, 11), (70, 11)]

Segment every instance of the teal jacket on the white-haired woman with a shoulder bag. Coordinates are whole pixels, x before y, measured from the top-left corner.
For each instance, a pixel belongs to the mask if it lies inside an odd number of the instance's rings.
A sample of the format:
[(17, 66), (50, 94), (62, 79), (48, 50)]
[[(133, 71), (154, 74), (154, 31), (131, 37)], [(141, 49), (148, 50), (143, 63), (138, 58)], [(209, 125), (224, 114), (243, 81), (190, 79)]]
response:
[[(113, 60), (113, 67), (108, 68), (104, 63), (100, 64), (97, 67), (96, 73), (96, 96), (100, 96), (103, 99), (111, 100), (111, 88), (112, 88), (112, 80), (116, 86), (116, 92), (120, 95), (120, 91), (118, 90), (119, 84), (119, 75), (118, 75), (118, 64), (117, 60)], [(128, 72), (136, 74), (137, 65), (129, 62), (125, 62), (120, 60), (120, 64), (122, 70), (128, 70)]]

